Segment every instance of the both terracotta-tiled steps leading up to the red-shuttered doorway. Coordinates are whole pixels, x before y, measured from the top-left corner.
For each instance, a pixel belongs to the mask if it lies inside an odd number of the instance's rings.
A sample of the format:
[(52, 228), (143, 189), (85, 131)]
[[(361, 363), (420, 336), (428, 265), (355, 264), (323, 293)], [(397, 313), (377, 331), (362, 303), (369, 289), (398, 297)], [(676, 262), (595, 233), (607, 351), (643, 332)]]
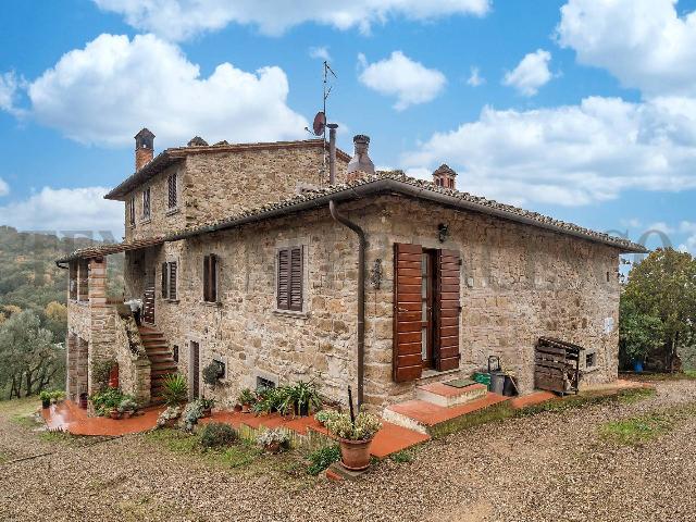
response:
[(391, 405), (384, 410), (384, 419), (399, 426), (432, 435), (459, 418), (506, 402), (509, 397), (488, 391), (483, 384), (462, 388), (432, 383), (417, 388), (417, 399)]

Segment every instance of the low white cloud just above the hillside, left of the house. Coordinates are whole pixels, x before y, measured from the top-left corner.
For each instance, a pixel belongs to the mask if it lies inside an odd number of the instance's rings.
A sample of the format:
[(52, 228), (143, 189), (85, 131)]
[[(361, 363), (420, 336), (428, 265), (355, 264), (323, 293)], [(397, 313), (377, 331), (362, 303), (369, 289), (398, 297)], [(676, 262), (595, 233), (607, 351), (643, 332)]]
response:
[(123, 203), (103, 199), (104, 187), (44, 187), (27, 199), (0, 207), (0, 224), (21, 231), (113, 232), (123, 236)]

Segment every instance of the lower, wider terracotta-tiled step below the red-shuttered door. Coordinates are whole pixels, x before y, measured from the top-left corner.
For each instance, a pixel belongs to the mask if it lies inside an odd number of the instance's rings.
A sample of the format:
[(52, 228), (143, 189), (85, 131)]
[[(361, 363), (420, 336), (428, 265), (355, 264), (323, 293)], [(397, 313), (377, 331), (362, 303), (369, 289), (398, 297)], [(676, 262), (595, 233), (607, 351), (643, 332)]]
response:
[(449, 408), (424, 400), (409, 400), (408, 402), (401, 402), (386, 408), (384, 410), (384, 419), (400, 426), (426, 434), (438, 424), (477, 412), (490, 406), (505, 402), (508, 399), (509, 397), (488, 391), (485, 397)]

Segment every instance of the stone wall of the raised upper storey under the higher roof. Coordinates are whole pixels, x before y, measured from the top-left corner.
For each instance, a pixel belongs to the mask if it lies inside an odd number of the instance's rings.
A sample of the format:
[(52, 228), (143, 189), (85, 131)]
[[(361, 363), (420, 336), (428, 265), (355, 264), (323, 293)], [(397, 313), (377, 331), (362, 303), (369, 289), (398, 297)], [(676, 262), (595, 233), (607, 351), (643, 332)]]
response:
[[(337, 157), (337, 181), (348, 158)], [(297, 194), (298, 187), (327, 184), (323, 149), (298, 144), (268, 149), (210, 151), (188, 156), (125, 197), (126, 240), (142, 239), (196, 226)], [(178, 208), (170, 210), (167, 178), (177, 173)], [(150, 219), (142, 219), (142, 190), (150, 187)], [(136, 225), (129, 223), (135, 196)]]

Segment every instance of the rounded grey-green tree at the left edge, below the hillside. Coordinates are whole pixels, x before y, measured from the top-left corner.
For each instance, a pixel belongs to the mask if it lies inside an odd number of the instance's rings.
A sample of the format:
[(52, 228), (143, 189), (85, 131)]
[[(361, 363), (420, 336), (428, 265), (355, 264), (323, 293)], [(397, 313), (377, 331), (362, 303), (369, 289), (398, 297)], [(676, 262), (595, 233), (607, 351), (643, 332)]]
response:
[(10, 398), (41, 391), (64, 368), (65, 351), (32, 311), (15, 313), (0, 326), (0, 386), (10, 387)]

